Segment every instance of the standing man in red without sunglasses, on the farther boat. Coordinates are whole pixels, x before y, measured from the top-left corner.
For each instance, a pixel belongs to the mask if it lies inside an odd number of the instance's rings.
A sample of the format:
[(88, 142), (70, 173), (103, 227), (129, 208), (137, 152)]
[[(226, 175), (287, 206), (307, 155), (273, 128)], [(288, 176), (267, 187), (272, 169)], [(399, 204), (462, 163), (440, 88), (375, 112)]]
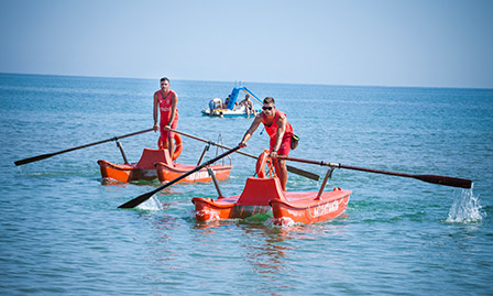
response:
[[(176, 129), (178, 125), (178, 95), (169, 89), (169, 79), (167, 77), (161, 78), (161, 89), (154, 92), (154, 131), (160, 130), (160, 144), (163, 149), (169, 151), (169, 156), (173, 157), (174, 142), (173, 133), (169, 129)], [(160, 108), (161, 121), (157, 125), (157, 107)], [(160, 145), (161, 146), (161, 145)]]

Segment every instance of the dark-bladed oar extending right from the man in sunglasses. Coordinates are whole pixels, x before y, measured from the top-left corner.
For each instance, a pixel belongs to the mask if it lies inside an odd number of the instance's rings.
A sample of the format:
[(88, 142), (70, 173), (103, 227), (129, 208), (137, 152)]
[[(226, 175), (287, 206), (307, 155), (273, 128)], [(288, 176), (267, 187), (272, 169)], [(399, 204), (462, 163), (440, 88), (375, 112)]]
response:
[(380, 171), (380, 169), (373, 169), (373, 168), (350, 166), (350, 165), (343, 165), (343, 164), (338, 164), (338, 163), (325, 163), (325, 162), (293, 158), (293, 157), (283, 157), (283, 156), (278, 156), (278, 157), (282, 160), (292, 161), (292, 162), (318, 164), (318, 165), (330, 166), (330, 167), (336, 167), (336, 168), (348, 168), (348, 169), (363, 171), (363, 172), (369, 172), (369, 173), (415, 178), (415, 179), (419, 179), (419, 180), (427, 182), (427, 183), (452, 186), (452, 187), (460, 187), (460, 188), (471, 188), (472, 187), (472, 180), (463, 179), (463, 178), (439, 176), (439, 175), (413, 175), (413, 174), (405, 174), (405, 173), (395, 173), (395, 172)]

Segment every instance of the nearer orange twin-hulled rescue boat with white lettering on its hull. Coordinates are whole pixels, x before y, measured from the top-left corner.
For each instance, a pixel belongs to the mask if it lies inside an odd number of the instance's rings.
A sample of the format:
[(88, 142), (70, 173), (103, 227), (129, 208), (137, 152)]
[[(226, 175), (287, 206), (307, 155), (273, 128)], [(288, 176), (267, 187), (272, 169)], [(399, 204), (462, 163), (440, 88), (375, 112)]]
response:
[(246, 179), (241, 195), (217, 199), (193, 198), (196, 219), (244, 219), (272, 212), (275, 224), (314, 223), (333, 219), (346, 210), (351, 190), (335, 188), (332, 191), (283, 191), (275, 174), (267, 176), (264, 172), (264, 165), (270, 163), (267, 155), (269, 151), (264, 151), (259, 156), (258, 177)]

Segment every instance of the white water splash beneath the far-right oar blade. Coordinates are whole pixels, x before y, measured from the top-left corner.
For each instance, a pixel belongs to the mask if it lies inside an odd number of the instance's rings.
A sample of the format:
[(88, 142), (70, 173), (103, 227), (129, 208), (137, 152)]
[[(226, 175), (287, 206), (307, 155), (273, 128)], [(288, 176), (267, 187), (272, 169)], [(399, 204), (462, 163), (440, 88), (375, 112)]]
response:
[(469, 190), (454, 191), (454, 200), (449, 210), (447, 222), (452, 223), (478, 223), (486, 217), (481, 211), (479, 196), (474, 196), (472, 188)]

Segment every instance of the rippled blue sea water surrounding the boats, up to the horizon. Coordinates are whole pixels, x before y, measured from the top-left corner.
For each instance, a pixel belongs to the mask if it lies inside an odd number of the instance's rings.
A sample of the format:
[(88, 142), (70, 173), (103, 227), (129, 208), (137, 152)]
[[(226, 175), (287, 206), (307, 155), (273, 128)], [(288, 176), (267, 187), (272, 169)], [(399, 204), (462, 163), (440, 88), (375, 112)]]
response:
[[(493, 294), (492, 89), (244, 85), (287, 113), (300, 136), (294, 157), (470, 178), (473, 190), (337, 169), (328, 189), (353, 195), (343, 217), (324, 223), (199, 223), (190, 199), (216, 197), (211, 184), (176, 185), (122, 210), (160, 184), (102, 185), (97, 161), (122, 162), (114, 142), (13, 162), (151, 128), (158, 80), (0, 74), (0, 293)], [(178, 129), (235, 145), (251, 119), (200, 114), (233, 86), (172, 80)], [(245, 152), (267, 145), (260, 131)], [(156, 140), (121, 142), (134, 162)], [(204, 145), (185, 138), (179, 161), (196, 163)], [(224, 195), (254, 171), (249, 157), (231, 161)], [(287, 187), (319, 185), (289, 175)]]

